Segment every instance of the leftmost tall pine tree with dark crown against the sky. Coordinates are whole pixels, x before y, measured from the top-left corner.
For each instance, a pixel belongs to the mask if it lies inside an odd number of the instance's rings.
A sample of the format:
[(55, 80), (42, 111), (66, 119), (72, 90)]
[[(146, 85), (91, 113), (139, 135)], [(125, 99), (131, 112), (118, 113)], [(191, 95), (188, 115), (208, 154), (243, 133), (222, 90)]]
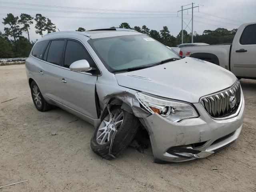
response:
[(4, 31), (6, 36), (14, 38), (14, 43), (16, 43), (16, 39), (22, 35), (22, 30), (20, 26), (18, 26), (18, 19), (18, 16), (14, 17), (13, 14), (9, 13), (6, 18), (3, 18), (4, 22), (2, 22), (4, 25), (8, 24), (10, 26), (10, 28), (5, 27)]

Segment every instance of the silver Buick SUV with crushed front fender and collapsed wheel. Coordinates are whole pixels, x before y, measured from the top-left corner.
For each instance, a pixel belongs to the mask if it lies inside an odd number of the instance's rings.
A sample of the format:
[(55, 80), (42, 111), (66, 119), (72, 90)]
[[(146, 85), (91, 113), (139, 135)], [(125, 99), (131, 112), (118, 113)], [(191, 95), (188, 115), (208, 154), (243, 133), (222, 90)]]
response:
[(242, 129), (244, 97), (234, 74), (133, 30), (47, 34), (26, 72), (36, 108), (59, 106), (93, 124), (91, 148), (106, 159), (139, 128), (158, 163), (209, 156)]

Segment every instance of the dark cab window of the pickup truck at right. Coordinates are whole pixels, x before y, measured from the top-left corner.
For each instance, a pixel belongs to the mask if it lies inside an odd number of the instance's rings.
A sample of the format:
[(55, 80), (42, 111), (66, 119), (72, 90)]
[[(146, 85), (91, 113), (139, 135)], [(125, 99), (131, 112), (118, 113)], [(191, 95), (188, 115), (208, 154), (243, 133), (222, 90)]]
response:
[(256, 44), (256, 24), (248, 25), (240, 38), (240, 44)]

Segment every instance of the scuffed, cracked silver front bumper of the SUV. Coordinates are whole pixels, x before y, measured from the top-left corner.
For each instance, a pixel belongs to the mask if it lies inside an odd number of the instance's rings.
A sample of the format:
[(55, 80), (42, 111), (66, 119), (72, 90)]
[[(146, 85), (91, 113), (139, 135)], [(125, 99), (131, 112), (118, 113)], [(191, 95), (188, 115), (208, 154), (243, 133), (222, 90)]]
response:
[(144, 118), (155, 160), (184, 162), (205, 158), (234, 142), (242, 129), (244, 100), (240, 112), (226, 120), (212, 119), (200, 104), (200, 117), (170, 122), (158, 114)]

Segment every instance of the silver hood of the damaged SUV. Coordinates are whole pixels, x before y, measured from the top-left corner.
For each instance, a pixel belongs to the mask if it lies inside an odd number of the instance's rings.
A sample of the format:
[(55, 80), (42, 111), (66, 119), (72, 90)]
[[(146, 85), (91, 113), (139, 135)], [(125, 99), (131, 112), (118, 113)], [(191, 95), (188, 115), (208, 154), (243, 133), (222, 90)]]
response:
[(236, 82), (230, 71), (186, 57), (166, 64), (116, 74), (120, 86), (176, 100), (198, 103), (200, 97)]

